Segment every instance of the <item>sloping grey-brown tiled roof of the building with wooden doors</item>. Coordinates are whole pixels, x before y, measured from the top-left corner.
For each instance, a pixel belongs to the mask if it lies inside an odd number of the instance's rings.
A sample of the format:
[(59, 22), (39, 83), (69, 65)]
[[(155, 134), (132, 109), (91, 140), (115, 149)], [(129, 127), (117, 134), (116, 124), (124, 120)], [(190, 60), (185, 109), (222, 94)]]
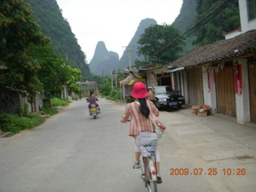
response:
[(235, 38), (199, 46), (181, 58), (171, 62), (170, 66), (199, 66), (229, 58), (240, 58), (252, 53), (256, 53), (256, 30), (250, 30)]

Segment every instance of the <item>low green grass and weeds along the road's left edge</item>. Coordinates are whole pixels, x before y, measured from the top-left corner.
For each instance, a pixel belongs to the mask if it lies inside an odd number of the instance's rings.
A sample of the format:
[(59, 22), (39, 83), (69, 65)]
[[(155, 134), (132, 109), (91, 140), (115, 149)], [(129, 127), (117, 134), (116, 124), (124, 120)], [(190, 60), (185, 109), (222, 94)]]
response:
[(50, 115), (58, 114), (57, 106), (67, 106), (70, 102), (65, 99), (53, 98), (52, 106), (42, 108), (44, 114), (30, 114), (24, 111), (19, 114), (0, 114), (0, 129), (2, 132), (18, 134), (22, 130), (31, 129), (41, 125)]

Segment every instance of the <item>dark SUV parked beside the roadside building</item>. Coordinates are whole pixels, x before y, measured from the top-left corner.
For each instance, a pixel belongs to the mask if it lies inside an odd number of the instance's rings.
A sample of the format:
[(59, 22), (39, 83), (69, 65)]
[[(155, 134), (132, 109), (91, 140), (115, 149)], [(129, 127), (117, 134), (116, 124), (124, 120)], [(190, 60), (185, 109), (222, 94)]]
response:
[(156, 106), (158, 108), (172, 106), (182, 108), (182, 105), (185, 104), (185, 99), (182, 94), (179, 94), (178, 90), (174, 90), (170, 86), (154, 86), (154, 93), (157, 99)]

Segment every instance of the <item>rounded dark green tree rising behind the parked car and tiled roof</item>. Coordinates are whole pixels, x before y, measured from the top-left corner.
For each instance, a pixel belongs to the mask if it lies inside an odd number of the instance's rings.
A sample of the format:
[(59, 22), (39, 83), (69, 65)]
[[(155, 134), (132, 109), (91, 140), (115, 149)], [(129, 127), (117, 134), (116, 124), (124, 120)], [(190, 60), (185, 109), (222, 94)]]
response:
[(150, 26), (138, 40), (138, 54), (144, 55), (145, 61), (137, 61), (138, 65), (154, 63), (165, 65), (178, 58), (182, 51), (184, 38), (174, 27), (167, 24)]

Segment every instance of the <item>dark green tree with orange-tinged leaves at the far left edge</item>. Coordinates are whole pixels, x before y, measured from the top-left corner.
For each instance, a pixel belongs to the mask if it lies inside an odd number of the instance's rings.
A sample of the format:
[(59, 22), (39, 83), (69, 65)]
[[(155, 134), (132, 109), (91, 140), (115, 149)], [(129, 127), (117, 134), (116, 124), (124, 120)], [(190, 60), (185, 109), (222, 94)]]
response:
[(38, 80), (40, 65), (28, 54), (34, 45), (47, 45), (46, 38), (22, 0), (2, 0), (0, 6), (0, 64), (8, 72), (0, 75), (0, 87), (26, 90), (33, 98), (42, 87)]

